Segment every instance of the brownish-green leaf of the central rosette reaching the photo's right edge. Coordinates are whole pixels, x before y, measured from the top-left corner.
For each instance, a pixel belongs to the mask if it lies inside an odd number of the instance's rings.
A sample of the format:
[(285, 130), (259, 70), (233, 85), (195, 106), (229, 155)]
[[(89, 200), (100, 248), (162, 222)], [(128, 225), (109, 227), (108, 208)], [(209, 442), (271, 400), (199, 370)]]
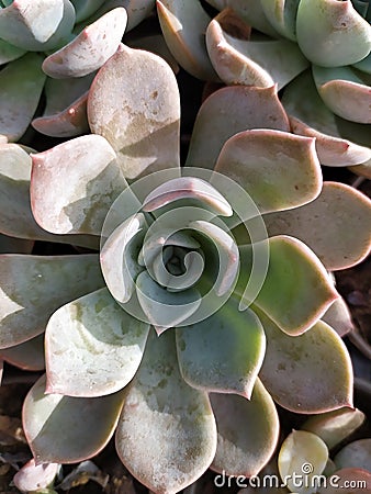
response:
[(324, 182), (318, 198), (291, 211), (263, 217), (269, 235), (304, 242), (330, 270), (349, 268), (371, 249), (371, 201), (340, 182)]

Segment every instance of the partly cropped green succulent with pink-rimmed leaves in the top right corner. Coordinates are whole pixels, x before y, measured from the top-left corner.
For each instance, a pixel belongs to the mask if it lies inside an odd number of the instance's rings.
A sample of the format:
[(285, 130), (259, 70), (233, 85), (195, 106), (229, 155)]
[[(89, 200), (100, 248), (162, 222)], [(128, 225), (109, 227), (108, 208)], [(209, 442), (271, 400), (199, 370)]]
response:
[[(273, 83), (292, 132), (316, 137), (322, 165), (371, 177), (368, 1), (158, 0), (164, 36), (179, 64), (225, 85)], [(194, 21), (196, 19), (196, 21)], [(182, 30), (179, 30), (182, 25)]]

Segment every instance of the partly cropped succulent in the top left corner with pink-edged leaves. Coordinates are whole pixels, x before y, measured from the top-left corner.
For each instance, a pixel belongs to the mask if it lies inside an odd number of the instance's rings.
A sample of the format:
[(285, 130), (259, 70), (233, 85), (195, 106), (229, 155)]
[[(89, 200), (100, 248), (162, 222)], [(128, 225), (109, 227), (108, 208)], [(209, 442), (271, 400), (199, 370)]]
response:
[[(30, 124), (56, 137), (89, 132), (86, 104), (97, 69), (117, 49), (126, 23), (132, 29), (154, 5), (154, 0), (0, 2), (0, 134), (16, 142)], [(40, 108), (35, 117), (42, 94), (43, 114)]]

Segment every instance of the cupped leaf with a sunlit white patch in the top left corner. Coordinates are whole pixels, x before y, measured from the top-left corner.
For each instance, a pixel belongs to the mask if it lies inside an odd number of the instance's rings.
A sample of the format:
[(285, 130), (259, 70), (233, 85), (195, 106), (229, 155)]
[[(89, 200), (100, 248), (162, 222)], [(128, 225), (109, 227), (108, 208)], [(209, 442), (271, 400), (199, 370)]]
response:
[(1, 37), (23, 49), (43, 52), (64, 43), (75, 23), (69, 0), (18, 0), (0, 10)]

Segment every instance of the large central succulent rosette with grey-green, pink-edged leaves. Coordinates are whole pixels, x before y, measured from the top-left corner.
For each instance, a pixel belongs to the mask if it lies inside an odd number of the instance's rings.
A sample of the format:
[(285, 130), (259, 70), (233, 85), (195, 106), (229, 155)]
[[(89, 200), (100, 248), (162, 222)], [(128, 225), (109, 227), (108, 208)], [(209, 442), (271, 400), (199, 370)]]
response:
[(45, 330), (23, 407), (31, 467), (86, 460), (115, 434), (156, 493), (209, 467), (255, 475), (277, 447), (274, 402), (352, 406), (328, 271), (369, 254), (371, 201), (323, 182), (274, 86), (211, 94), (187, 167), (177, 80), (156, 55), (121, 45), (87, 109), (92, 134), (0, 147), (1, 232), (100, 250), (0, 256), (0, 356), (22, 364)]

